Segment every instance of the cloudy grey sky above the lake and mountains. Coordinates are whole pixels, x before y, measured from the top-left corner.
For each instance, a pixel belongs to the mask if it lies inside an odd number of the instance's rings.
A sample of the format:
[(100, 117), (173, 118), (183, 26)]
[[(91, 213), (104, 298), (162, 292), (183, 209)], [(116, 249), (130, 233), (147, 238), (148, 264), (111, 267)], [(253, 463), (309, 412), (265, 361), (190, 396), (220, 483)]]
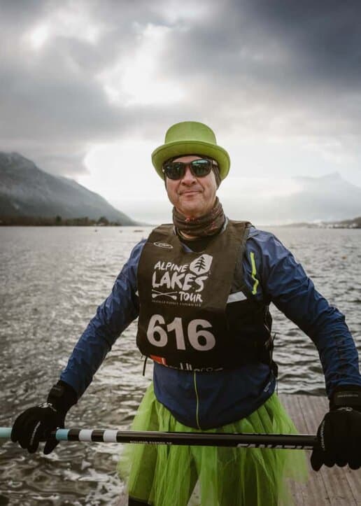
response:
[(150, 153), (183, 120), (229, 151), (234, 218), (297, 176), (361, 186), (360, 19), (357, 0), (0, 0), (0, 150), (153, 223)]

